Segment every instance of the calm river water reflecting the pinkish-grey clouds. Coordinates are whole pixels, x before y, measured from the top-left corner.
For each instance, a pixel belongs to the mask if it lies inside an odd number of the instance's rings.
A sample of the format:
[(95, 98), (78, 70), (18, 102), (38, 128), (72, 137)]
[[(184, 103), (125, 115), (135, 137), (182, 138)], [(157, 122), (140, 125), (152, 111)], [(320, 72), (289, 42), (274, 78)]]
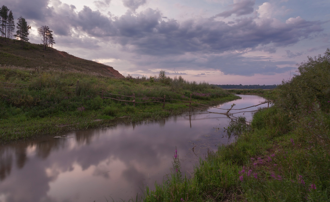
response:
[[(218, 107), (228, 109), (235, 103), (233, 109), (239, 109), (265, 100), (240, 96), (242, 99)], [(215, 108), (209, 111), (226, 112)], [(244, 115), (251, 119), (251, 113)], [(137, 194), (142, 195), (143, 187), (153, 189), (155, 181), (161, 183), (171, 172), (175, 148), (182, 173), (190, 176), (208, 148), (215, 151), (217, 145), (232, 142), (223, 129), (229, 121), (222, 114), (195, 110), (191, 115), (155, 122), (119, 123), (111, 128), (56, 134), (65, 138), (43, 135), (1, 144), (0, 202), (135, 199)]]

